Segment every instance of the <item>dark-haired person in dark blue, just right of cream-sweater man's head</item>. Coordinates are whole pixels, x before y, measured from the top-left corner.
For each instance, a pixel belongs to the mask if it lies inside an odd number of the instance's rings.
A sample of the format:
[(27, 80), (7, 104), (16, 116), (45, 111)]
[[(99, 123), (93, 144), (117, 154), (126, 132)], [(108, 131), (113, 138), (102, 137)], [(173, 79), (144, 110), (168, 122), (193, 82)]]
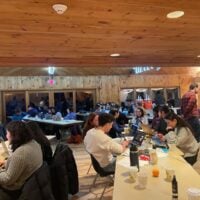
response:
[(110, 114), (114, 117), (114, 121), (113, 121), (112, 128), (110, 129), (108, 135), (111, 138), (121, 137), (121, 133), (124, 131), (124, 127), (122, 125), (119, 125), (116, 121), (119, 117), (119, 111), (111, 110)]

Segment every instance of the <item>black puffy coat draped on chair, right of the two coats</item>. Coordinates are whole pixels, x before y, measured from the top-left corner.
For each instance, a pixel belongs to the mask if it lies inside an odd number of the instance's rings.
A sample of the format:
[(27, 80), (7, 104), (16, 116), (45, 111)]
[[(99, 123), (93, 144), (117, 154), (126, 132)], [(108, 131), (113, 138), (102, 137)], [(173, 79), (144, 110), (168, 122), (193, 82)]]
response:
[(68, 194), (79, 191), (78, 170), (72, 150), (67, 144), (58, 144), (51, 164), (51, 182), (56, 200), (68, 200)]

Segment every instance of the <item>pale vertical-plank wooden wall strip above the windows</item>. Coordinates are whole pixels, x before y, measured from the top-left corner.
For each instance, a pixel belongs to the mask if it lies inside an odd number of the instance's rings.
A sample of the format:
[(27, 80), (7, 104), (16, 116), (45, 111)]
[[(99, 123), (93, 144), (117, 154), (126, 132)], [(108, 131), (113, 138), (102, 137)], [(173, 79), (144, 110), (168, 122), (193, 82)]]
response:
[(55, 85), (47, 83), (48, 77), (22, 76), (0, 77), (0, 90), (58, 90), (95, 89), (97, 101), (119, 102), (120, 88), (174, 87), (180, 86), (181, 95), (188, 90), (194, 77), (180, 75), (132, 75), (132, 76), (59, 76)]

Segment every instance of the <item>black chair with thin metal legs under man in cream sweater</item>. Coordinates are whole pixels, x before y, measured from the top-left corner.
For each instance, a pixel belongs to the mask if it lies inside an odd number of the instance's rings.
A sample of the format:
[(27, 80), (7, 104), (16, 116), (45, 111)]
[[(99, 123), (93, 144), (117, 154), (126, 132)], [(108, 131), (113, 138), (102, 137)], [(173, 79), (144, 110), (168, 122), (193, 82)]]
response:
[(100, 200), (102, 199), (104, 193), (105, 193), (105, 190), (107, 188), (107, 186), (109, 186), (110, 183), (113, 183), (113, 177), (111, 177), (110, 175), (114, 175), (114, 172), (107, 172), (105, 171), (101, 166), (100, 164), (98, 163), (98, 161), (94, 158), (94, 156), (92, 154), (90, 154), (90, 157), (91, 157), (91, 161), (92, 161), (92, 166), (94, 168), (94, 170), (96, 171), (96, 176), (94, 177), (94, 180), (93, 180), (93, 183), (90, 187), (90, 192), (91, 192), (91, 189), (92, 187), (95, 186), (95, 183), (96, 183), (96, 180), (97, 178), (100, 176), (100, 177), (108, 177), (108, 181), (105, 182), (105, 187), (101, 193), (101, 196), (100, 196)]

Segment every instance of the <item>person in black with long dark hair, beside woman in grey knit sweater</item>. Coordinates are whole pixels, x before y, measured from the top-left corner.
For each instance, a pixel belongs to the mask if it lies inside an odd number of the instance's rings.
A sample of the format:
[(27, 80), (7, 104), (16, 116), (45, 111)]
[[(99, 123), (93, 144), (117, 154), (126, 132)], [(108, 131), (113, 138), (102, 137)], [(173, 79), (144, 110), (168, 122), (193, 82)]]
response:
[(42, 129), (39, 127), (37, 122), (29, 121), (26, 122), (26, 125), (33, 133), (34, 139), (41, 146), (43, 161), (47, 162), (47, 164), (50, 165), (52, 161), (52, 149), (49, 140), (44, 135)]

